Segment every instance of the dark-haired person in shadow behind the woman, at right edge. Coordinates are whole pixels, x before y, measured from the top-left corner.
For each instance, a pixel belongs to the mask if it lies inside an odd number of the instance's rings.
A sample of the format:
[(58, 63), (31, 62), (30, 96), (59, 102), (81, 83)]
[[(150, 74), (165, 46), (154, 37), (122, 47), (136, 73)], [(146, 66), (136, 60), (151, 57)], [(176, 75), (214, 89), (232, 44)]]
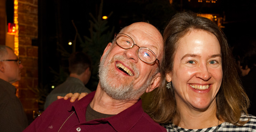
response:
[(233, 46), (232, 53), (237, 62), (243, 88), (250, 99), (248, 113), (256, 115), (256, 41), (245, 40)]

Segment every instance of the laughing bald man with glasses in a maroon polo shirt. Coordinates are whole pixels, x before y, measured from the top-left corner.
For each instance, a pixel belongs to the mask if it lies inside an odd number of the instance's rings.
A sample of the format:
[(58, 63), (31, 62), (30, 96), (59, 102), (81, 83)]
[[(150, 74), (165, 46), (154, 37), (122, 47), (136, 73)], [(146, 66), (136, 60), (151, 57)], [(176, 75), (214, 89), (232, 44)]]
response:
[(144, 113), (140, 96), (159, 86), (160, 32), (145, 22), (115, 35), (103, 52), (96, 91), (53, 102), (24, 132), (166, 132)]

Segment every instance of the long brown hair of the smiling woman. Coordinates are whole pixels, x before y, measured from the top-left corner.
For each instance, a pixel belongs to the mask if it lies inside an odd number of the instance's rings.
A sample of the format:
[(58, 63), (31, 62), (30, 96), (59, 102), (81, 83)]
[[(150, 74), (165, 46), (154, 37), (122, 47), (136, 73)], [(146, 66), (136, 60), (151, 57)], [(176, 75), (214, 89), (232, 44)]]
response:
[(161, 64), (163, 81), (159, 88), (154, 90), (152, 104), (147, 112), (155, 122), (168, 123), (172, 120), (176, 111), (176, 102), (173, 87), (166, 88), (165, 73), (173, 70), (174, 56), (178, 41), (187, 32), (192, 30), (204, 30), (215, 35), (221, 46), (223, 79), (221, 88), (216, 97), (217, 112), (220, 117), (234, 125), (241, 126), (247, 121), (240, 121), (241, 113), (247, 114), (249, 99), (241, 86), (236, 71), (236, 64), (232, 57), (226, 36), (219, 27), (211, 20), (200, 17), (194, 12), (179, 12), (174, 15), (166, 26), (164, 37), (164, 59)]

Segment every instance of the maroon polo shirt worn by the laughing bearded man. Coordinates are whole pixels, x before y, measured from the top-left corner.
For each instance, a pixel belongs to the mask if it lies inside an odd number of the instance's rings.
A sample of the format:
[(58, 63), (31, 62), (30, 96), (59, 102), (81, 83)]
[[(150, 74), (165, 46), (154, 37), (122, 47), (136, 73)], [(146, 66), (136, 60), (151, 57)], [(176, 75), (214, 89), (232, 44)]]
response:
[(141, 106), (141, 100), (119, 114), (86, 122), (86, 109), (95, 91), (74, 103), (57, 100), (23, 132), (166, 132)]

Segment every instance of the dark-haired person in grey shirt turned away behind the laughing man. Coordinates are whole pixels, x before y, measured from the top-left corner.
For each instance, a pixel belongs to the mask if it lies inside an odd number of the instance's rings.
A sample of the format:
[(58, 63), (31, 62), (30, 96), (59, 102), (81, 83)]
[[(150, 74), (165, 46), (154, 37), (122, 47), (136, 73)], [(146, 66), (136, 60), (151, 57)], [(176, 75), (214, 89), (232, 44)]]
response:
[(54, 88), (46, 97), (44, 110), (57, 100), (57, 96), (65, 96), (67, 93), (91, 92), (84, 86), (91, 77), (92, 64), (90, 57), (83, 52), (75, 52), (71, 54), (68, 61), (70, 75), (65, 82)]

